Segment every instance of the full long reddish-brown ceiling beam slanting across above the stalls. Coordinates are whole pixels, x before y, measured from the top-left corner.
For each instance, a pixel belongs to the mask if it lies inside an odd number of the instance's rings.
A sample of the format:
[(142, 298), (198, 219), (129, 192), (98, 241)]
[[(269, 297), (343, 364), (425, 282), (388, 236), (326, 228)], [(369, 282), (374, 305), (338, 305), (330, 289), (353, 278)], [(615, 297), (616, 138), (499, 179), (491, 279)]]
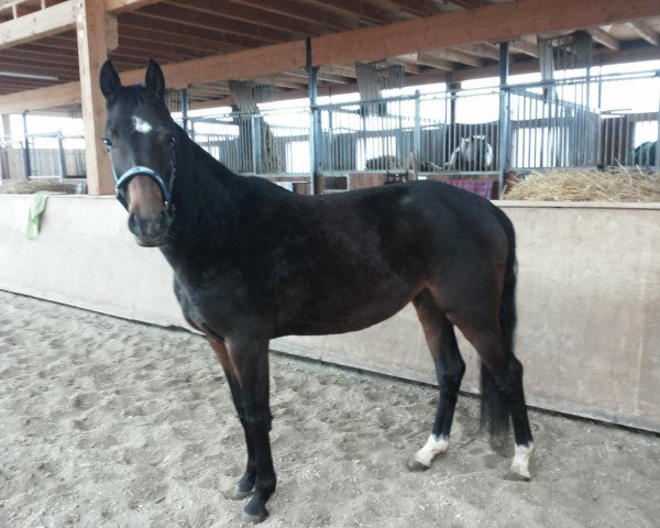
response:
[[(419, 50), (481, 41), (509, 41), (526, 32), (543, 33), (590, 28), (654, 15), (660, 15), (660, 2), (657, 0), (592, 0), (588, 6), (574, 0), (518, 0), (486, 6), (470, 12), (455, 11), (397, 22), (384, 28), (367, 28), (314, 37), (312, 58), (316, 66), (369, 62)], [(205, 80), (276, 75), (279, 72), (304, 68), (305, 65), (305, 41), (296, 41), (179, 64), (166, 64), (163, 70), (168, 86), (180, 88)], [(417, 70), (424, 73), (421, 68)], [(122, 74), (124, 82), (141, 81), (143, 77), (143, 69)], [(78, 89), (78, 84), (72, 82), (44, 88), (41, 91), (0, 97), (0, 113), (70, 105), (77, 102), (75, 95)]]

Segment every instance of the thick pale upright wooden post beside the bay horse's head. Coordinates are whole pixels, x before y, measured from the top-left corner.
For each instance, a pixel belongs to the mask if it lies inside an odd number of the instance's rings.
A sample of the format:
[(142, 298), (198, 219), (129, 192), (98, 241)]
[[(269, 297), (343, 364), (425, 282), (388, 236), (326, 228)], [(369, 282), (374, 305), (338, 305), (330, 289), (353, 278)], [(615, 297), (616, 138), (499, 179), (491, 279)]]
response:
[(76, 35), (78, 68), (85, 130), (87, 188), (90, 195), (108, 195), (114, 190), (110, 160), (101, 141), (106, 121), (106, 103), (98, 86), (101, 65), (108, 58), (103, 2), (76, 0)]

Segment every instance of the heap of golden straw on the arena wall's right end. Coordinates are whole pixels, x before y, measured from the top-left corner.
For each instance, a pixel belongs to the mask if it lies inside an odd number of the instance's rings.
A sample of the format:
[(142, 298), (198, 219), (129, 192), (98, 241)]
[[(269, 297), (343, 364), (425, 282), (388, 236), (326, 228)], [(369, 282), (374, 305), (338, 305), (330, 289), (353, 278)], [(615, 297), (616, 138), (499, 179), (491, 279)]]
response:
[(516, 182), (506, 200), (660, 201), (660, 174), (639, 167), (607, 167), (532, 172)]

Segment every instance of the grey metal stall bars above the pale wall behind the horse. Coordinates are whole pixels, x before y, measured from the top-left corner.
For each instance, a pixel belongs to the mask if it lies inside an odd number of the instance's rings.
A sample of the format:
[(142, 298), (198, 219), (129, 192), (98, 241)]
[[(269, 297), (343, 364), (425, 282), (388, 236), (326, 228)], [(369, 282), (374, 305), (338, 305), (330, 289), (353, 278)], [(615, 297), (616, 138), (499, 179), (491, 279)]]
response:
[[(501, 117), (503, 101), (507, 111)], [(188, 131), (232, 170), (272, 179), (309, 182), (311, 160), (317, 174), (344, 179), (413, 167), (452, 177), (502, 177), (508, 168), (659, 169), (659, 117), (660, 73), (646, 72), (227, 112), (189, 119)], [(84, 140), (56, 133), (0, 142), (0, 170), (3, 178), (81, 177)]]

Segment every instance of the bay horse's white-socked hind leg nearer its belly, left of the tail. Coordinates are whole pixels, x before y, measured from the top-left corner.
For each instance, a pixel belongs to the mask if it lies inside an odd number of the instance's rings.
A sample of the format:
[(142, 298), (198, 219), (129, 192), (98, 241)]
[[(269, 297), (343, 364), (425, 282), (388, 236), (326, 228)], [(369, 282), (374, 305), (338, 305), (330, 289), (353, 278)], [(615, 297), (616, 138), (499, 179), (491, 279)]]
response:
[(417, 315), (436, 363), (436, 374), (440, 386), (440, 397), (436, 411), (433, 430), (427, 443), (408, 462), (410, 471), (425, 471), (433, 459), (447, 451), (453, 414), (459, 397), (465, 363), (459, 352), (453, 324), (447, 319), (433, 300), (429, 290), (424, 290), (414, 299)]

